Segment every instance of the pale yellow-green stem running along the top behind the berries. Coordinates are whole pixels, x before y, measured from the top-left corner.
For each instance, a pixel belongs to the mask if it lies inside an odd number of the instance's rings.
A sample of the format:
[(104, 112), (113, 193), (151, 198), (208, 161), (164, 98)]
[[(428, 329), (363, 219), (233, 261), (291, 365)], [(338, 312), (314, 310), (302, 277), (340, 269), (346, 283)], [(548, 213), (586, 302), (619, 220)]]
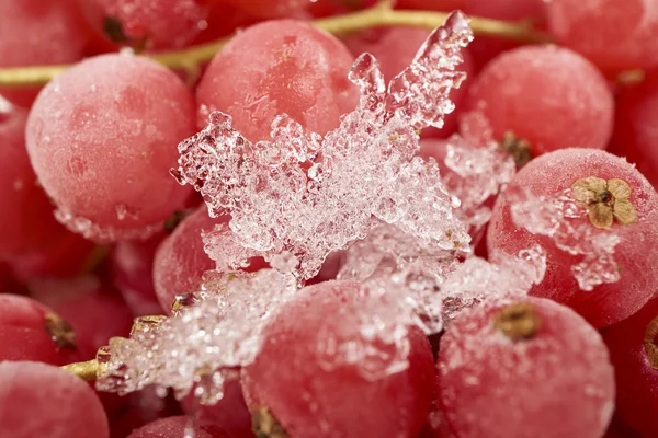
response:
[[(364, 11), (315, 20), (313, 23), (334, 35), (345, 35), (378, 26), (417, 26), (433, 30), (449, 16), (449, 13), (435, 11), (395, 11), (383, 7), (385, 4), (384, 2), (379, 7)], [(470, 27), (476, 35), (494, 35), (523, 43), (549, 43), (552, 41), (551, 36), (534, 30), (527, 22), (506, 22), (472, 16)], [(151, 58), (171, 69), (195, 71), (200, 65), (213, 59), (230, 38), (220, 38), (213, 43), (161, 53), (152, 55)], [(43, 85), (69, 67), (69, 65), (54, 65), (0, 68), (0, 87)]]

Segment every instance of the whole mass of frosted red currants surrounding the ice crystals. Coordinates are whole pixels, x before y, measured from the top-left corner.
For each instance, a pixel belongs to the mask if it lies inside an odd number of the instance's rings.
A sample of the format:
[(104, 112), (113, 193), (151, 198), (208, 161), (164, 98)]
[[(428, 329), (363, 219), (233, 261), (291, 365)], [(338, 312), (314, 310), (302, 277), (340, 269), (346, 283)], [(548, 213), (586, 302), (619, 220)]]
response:
[[(216, 405), (95, 392), (56, 367), (93, 359), (134, 316), (171, 314), (215, 268), (202, 233), (230, 217), (209, 217), (170, 174), (177, 145), (212, 111), (251, 141), (284, 113), (324, 135), (358, 104), (355, 56), (374, 54), (387, 79), (409, 65), (429, 31), (341, 41), (308, 22), (373, 3), (0, 0), (0, 68), (75, 64), (42, 90), (0, 83), (0, 437), (658, 436), (656, 0), (397, 4), (534, 21), (557, 43), (476, 36), (456, 111), (421, 132), (419, 151), (441, 164), (458, 132), (511, 153), (519, 171), (474, 251), (544, 247), (546, 274), (529, 297), (485, 300), (430, 338), (411, 330), (408, 367), (367, 379), (349, 361), (328, 367), (329, 347), (318, 347), (329, 331), (350, 354), (363, 336), (360, 285), (336, 280), (336, 255), (268, 322), (256, 360)], [(236, 30), (200, 78), (134, 54)], [(583, 290), (574, 275), (583, 253), (512, 218), (511, 194), (566, 189), (588, 212), (575, 220), (619, 238), (616, 281)]]

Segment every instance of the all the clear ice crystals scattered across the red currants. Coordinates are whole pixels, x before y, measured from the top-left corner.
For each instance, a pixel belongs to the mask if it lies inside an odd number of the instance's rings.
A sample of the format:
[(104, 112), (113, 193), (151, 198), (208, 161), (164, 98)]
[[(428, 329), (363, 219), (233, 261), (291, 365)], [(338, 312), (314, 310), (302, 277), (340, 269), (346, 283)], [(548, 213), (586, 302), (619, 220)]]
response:
[[(179, 397), (193, 392), (202, 403), (220, 399), (224, 380), (258, 354), (269, 318), (339, 250), (338, 279), (360, 281), (366, 297), (360, 337), (334, 345), (327, 333), (318, 348), (327, 369), (358, 364), (367, 379), (407, 366), (409, 327), (438, 333), (465, 307), (540, 283), (542, 247), (492, 254), (490, 262), (469, 257), (468, 230), (488, 221), (487, 203), (514, 174), (509, 157), (455, 137), (442, 182), (436, 162), (417, 155), (418, 129), (440, 127), (453, 110), (447, 95), (464, 79), (454, 67), (470, 39), (465, 18), (452, 14), (388, 87), (376, 60), (362, 55), (350, 72), (360, 105), (324, 138), (282, 115), (272, 140), (253, 145), (229, 116), (213, 113), (205, 129), (179, 146), (174, 174), (203, 194), (212, 215), (231, 215), (229, 226), (203, 235), (217, 272), (202, 291), (178, 301), (173, 316), (140, 319), (129, 339), (111, 339), (99, 351), (98, 388), (127, 393), (156, 385)], [(575, 275), (590, 285), (586, 273), (606, 263), (612, 240), (589, 239), (588, 230), (556, 219), (554, 210), (571, 211), (566, 204), (517, 200), (515, 220), (583, 254)], [(273, 269), (235, 273), (256, 255)]]

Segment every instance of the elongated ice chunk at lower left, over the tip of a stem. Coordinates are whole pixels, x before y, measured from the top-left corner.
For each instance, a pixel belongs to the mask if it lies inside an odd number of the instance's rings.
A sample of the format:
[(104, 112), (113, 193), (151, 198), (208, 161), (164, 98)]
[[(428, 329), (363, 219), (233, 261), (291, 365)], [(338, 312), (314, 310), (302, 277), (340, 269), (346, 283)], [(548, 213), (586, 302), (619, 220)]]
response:
[(218, 276), (205, 289), (177, 315), (138, 319), (129, 339), (110, 339), (99, 353), (104, 371), (97, 388), (124, 394), (171, 387), (179, 397), (195, 388), (212, 404), (223, 395), (226, 372), (253, 360), (263, 324), (297, 290), (292, 275), (274, 269)]

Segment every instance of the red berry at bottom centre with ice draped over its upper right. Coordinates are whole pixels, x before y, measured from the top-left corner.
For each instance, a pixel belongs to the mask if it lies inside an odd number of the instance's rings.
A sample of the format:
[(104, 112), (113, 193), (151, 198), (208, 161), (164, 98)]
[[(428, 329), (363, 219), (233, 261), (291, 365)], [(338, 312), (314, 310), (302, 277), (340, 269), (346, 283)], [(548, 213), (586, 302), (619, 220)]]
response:
[(402, 371), (367, 380), (359, 364), (327, 369), (331, 359), (319, 347), (327, 342), (321, 333), (334, 333), (338, 349), (364, 336), (360, 289), (348, 281), (310, 286), (265, 326), (262, 349), (242, 374), (256, 430), (283, 428), (291, 438), (412, 438), (420, 431), (434, 377), (432, 351), (420, 331), (409, 332), (409, 367)]

